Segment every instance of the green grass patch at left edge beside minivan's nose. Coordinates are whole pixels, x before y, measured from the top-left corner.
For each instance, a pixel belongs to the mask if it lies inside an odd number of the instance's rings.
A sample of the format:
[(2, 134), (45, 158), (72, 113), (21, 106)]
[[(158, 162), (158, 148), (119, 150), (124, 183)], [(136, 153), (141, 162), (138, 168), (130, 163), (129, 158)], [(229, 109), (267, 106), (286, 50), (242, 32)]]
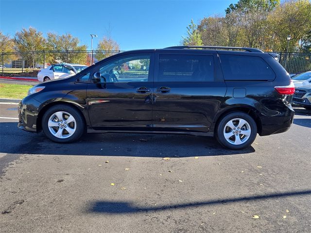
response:
[(32, 85), (0, 83), (0, 98), (23, 99)]

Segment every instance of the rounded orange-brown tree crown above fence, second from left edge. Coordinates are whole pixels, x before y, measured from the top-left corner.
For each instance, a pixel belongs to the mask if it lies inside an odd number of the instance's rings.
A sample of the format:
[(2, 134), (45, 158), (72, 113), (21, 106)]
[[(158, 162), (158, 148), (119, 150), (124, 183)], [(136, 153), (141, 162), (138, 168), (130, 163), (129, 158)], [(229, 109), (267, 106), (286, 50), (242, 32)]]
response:
[(18, 52), (38, 51), (46, 48), (46, 39), (41, 32), (30, 27), (28, 30), (23, 28), (14, 36), (14, 48)]

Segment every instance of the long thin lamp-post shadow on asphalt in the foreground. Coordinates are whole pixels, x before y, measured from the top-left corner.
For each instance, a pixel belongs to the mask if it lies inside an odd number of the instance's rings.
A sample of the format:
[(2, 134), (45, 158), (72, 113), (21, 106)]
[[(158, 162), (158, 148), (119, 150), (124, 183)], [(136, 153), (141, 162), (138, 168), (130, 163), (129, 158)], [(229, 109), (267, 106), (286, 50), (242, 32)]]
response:
[(126, 213), (138, 213), (138, 212), (147, 212), (147, 211), (165, 211), (169, 209), (181, 209), (188, 207), (199, 207), (206, 205), (217, 205), (225, 203), (234, 203), (242, 201), (254, 201), (254, 200), (268, 200), (276, 198), (286, 198), (293, 196), (302, 196), (302, 195), (311, 195), (311, 190), (301, 190), (294, 192), (283, 192), (283, 193), (271, 193), (266, 195), (258, 196), (248, 196), (240, 198), (228, 198), (228, 199), (216, 199), (216, 200), (207, 200), (207, 201), (198, 201), (190, 202), (184, 204), (175, 204), (175, 205), (163, 205), (155, 207), (137, 207), (135, 203), (131, 202), (113, 202), (113, 201), (94, 201), (90, 203), (90, 208), (86, 210), (87, 213), (108, 213), (108, 214), (126, 214)]

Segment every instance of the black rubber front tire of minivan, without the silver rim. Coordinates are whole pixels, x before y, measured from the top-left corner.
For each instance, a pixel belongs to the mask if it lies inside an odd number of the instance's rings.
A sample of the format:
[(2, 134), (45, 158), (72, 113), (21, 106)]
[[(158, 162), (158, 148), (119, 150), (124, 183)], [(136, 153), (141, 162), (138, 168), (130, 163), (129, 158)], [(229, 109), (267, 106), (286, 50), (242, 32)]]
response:
[[(67, 138), (58, 138), (56, 136), (54, 136), (49, 129), (48, 126), (48, 122), (50, 117), (52, 117), (52, 115), (54, 115), (56, 112), (66, 112), (69, 113), (71, 116), (73, 116), (74, 120), (75, 120), (75, 131), (74, 133), (72, 133), (72, 135), (70, 135)], [(66, 115), (63, 115), (64, 117), (66, 117)], [(58, 123), (58, 122), (56, 122)], [(64, 122), (65, 123), (65, 122)], [(69, 125), (68, 125), (69, 126)], [(58, 127), (58, 126), (57, 126)], [(57, 128), (55, 132), (57, 131)], [(55, 128), (53, 128), (54, 130)], [(74, 142), (76, 140), (78, 140), (86, 131), (86, 124), (84, 121), (84, 118), (82, 116), (82, 114), (76, 110), (75, 108), (66, 105), (66, 104), (57, 104), (52, 106), (51, 108), (49, 108), (45, 114), (42, 117), (42, 130), (44, 132), (44, 134), (53, 142), (57, 142), (57, 143), (70, 143), (70, 142)], [(65, 133), (67, 133), (66, 129), (64, 128)]]

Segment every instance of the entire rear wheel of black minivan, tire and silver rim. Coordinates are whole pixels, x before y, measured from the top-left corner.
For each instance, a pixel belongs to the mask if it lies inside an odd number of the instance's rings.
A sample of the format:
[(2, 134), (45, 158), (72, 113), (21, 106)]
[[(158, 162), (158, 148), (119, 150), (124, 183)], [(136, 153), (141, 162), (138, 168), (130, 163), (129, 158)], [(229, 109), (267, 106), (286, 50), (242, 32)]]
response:
[(257, 135), (255, 120), (242, 112), (224, 116), (217, 127), (216, 137), (220, 144), (231, 150), (249, 147)]

